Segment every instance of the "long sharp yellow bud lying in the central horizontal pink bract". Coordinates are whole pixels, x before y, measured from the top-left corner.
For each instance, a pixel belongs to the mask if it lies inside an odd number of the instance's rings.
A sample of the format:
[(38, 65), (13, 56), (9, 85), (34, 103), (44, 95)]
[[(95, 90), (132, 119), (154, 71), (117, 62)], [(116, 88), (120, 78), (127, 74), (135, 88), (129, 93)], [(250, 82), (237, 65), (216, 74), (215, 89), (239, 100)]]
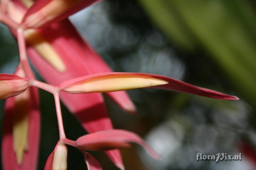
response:
[(112, 74), (89, 78), (63, 90), (68, 93), (115, 92), (168, 84), (167, 81), (137, 74)]

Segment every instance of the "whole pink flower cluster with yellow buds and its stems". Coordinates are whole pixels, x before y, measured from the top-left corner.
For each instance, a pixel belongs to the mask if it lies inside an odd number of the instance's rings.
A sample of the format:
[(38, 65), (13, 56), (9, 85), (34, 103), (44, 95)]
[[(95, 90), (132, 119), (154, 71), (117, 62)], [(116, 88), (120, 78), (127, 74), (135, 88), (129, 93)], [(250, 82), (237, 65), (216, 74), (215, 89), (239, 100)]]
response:
[[(54, 95), (60, 131), (60, 141), (48, 157), (45, 170), (67, 169), (66, 144), (80, 149), (88, 169), (102, 168), (85, 150), (103, 150), (116, 166), (124, 169), (118, 148), (129, 147), (129, 142), (142, 145), (151, 156), (160, 158), (138, 135), (113, 129), (102, 92), (106, 92), (121, 108), (131, 113), (136, 109), (124, 90), (137, 88), (158, 88), (215, 99), (238, 100), (235, 96), (160, 75), (111, 72), (66, 19), (97, 1), (37, 0), (32, 3), (30, 0), (12, 0), (2, 4), (2, 21), (4, 18), (4, 22), (17, 36), (20, 51), (20, 64), (16, 71), (18, 76), (0, 74), (0, 99), (8, 98), (2, 141), (5, 170), (36, 169), (40, 126), (36, 87)], [(51, 85), (35, 80), (26, 53)], [(84, 129), (91, 134), (76, 141), (66, 138), (59, 95), (70, 112), (76, 115)]]

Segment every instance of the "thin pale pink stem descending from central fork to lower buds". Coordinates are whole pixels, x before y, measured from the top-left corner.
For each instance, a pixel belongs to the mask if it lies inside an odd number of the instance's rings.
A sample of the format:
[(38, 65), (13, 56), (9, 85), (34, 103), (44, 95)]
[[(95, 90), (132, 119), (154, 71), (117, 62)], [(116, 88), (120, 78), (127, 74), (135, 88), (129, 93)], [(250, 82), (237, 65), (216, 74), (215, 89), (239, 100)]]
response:
[(61, 109), (60, 109), (60, 96), (59, 96), (59, 92), (54, 93), (53, 96), (54, 96), (56, 113), (57, 113), (57, 119), (58, 119), (58, 125), (59, 125), (60, 142), (63, 142), (62, 140), (66, 138), (66, 135), (65, 135), (65, 132), (64, 132), (63, 121), (62, 121), (62, 114), (61, 114)]

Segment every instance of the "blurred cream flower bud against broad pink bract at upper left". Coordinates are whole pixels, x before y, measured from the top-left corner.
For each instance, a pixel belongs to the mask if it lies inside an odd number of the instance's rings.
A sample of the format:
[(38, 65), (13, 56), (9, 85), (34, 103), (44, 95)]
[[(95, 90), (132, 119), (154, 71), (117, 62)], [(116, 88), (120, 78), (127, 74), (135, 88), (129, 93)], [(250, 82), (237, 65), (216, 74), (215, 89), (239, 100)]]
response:
[(64, 72), (66, 66), (52, 46), (35, 29), (28, 29), (24, 32), (25, 39), (36, 51), (59, 72)]

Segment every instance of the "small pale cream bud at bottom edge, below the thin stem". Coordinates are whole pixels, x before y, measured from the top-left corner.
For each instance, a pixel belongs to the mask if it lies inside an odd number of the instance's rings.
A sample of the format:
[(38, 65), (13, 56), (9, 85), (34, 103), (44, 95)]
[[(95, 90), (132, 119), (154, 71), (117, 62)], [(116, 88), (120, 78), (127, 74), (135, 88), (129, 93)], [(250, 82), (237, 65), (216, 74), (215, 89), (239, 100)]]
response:
[(52, 170), (67, 169), (68, 150), (65, 144), (59, 144), (54, 152)]

